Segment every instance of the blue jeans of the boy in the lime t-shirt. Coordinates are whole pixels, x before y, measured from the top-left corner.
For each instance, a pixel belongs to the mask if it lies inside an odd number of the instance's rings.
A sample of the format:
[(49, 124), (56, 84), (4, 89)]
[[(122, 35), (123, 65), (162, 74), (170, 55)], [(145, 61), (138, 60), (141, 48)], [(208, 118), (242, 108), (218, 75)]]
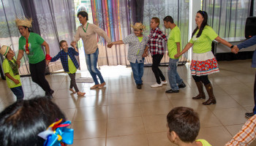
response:
[(178, 85), (182, 83), (182, 79), (181, 77), (179, 77), (177, 72), (177, 66), (178, 66), (178, 59), (170, 58), (167, 73), (168, 73), (168, 78), (170, 82), (170, 88), (172, 88), (174, 91), (177, 91)]

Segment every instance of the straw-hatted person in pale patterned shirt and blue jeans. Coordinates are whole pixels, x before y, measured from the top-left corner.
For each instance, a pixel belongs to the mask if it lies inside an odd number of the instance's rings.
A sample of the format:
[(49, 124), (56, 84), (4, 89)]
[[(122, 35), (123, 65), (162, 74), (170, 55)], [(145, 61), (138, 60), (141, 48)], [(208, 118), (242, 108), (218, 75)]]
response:
[(144, 58), (142, 58), (144, 49), (148, 42), (148, 37), (142, 34), (145, 26), (142, 23), (135, 23), (132, 26), (134, 34), (129, 34), (123, 40), (112, 42), (113, 45), (129, 44), (127, 59), (132, 66), (133, 77), (138, 89), (143, 85), (143, 67)]

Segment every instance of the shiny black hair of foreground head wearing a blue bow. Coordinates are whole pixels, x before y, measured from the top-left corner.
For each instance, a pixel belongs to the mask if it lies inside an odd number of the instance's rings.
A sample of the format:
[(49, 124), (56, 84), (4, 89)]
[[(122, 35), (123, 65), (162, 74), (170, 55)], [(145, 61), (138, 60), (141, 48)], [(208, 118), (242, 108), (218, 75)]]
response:
[(1, 146), (43, 145), (45, 139), (37, 134), (61, 118), (66, 120), (59, 107), (47, 97), (16, 101), (0, 113)]

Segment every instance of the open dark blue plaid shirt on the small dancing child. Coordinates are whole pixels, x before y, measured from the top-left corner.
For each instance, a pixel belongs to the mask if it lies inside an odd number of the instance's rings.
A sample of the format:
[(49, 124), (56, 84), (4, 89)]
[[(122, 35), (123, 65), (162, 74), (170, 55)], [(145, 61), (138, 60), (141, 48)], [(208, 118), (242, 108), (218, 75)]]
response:
[(56, 56), (54, 56), (50, 60), (50, 62), (57, 61), (59, 58), (61, 58), (61, 64), (63, 66), (64, 71), (69, 72), (69, 64), (68, 64), (67, 55), (69, 55), (69, 58), (72, 60), (75, 67), (78, 69), (79, 64), (78, 64), (77, 59), (75, 58), (75, 55), (79, 55), (79, 53), (77, 51), (75, 51), (75, 49), (72, 47), (68, 48), (67, 53), (65, 53), (64, 50), (61, 50)]

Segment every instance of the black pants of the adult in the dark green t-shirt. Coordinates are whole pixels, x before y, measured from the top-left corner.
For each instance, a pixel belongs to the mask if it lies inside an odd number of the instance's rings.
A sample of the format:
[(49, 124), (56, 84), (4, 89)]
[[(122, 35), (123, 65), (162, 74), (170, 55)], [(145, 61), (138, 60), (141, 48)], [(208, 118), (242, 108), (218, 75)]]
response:
[(48, 81), (45, 79), (45, 60), (37, 64), (29, 64), (29, 70), (33, 82), (36, 82), (46, 94), (49, 94), (51, 89)]

